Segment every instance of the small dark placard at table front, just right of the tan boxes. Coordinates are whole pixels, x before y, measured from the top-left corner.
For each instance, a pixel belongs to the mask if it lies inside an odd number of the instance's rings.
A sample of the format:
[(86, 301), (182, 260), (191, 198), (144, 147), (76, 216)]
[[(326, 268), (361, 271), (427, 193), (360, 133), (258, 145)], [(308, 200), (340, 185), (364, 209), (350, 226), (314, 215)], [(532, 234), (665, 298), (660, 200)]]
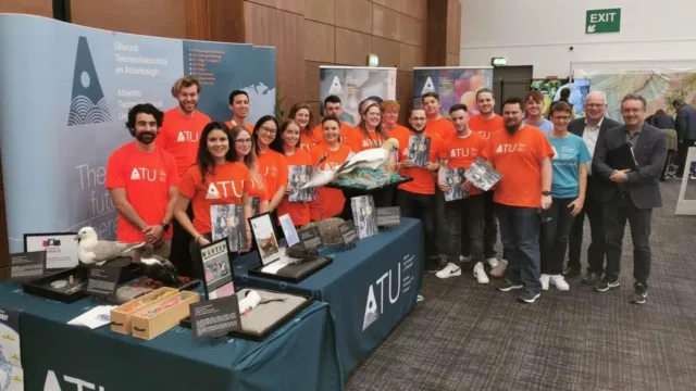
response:
[(241, 329), (237, 295), (190, 305), (194, 338), (215, 338)]

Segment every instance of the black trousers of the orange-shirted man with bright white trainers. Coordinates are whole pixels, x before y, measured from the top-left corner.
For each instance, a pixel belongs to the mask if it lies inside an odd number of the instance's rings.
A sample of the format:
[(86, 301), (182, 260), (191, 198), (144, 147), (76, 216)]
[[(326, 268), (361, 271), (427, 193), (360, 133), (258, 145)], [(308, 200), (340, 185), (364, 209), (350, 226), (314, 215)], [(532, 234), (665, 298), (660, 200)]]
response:
[(459, 264), (459, 255), (462, 253), (462, 227), (467, 227), (468, 236), (465, 241), (470, 249), (472, 262), (474, 264), (483, 262), (483, 203), (484, 194), (476, 194), (463, 200), (449, 201), (445, 204), (449, 230), (448, 262)]

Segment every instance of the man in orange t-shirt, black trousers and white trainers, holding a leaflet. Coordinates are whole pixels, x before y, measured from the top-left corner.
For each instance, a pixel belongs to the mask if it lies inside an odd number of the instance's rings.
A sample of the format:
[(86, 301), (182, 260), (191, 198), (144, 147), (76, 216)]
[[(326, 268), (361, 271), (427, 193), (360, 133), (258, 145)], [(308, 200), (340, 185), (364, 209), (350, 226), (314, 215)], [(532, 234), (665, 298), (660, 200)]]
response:
[[(469, 114), (467, 110), (467, 105), (461, 103), (450, 108), (449, 116), (452, 119), (457, 134), (447, 140), (440, 153), (439, 188), (443, 191), (449, 191), (451, 186), (461, 186), (461, 189), (468, 193), (468, 197), (445, 203), (449, 231), (449, 245), (447, 251), (449, 262), (445, 268), (437, 272), (436, 277), (449, 278), (461, 276), (459, 256), (461, 254), (461, 243), (462, 240), (464, 240), (464, 238), (462, 238), (462, 225), (465, 225), (468, 232), (465, 239), (469, 241), (469, 248), (471, 249), (474, 277), (476, 277), (480, 283), (488, 283), (488, 276), (486, 276), (483, 268), (483, 191), (472, 186), (469, 180), (455, 180), (452, 185), (445, 180), (448, 169), (461, 168), (467, 171), (476, 159), (482, 157), (487, 160), (488, 157), (488, 141), (469, 129)], [(463, 179), (463, 175), (456, 174), (451, 176), (451, 178), (455, 177)]]

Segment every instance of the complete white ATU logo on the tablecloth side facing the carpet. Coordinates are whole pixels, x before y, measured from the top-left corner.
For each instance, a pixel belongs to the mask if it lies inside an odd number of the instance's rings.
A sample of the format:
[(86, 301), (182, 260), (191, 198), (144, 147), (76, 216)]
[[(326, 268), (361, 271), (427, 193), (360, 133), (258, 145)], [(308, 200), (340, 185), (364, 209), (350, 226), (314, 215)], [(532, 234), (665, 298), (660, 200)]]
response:
[[(388, 277), (389, 279), (389, 288), (387, 293), (389, 294), (389, 304), (394, 304), (399, 300), (399, 295), (403, 294), (411, 290), (411, 281), (413, 280), (413, 276), (407, 274), (409, 269), (413, 268), (413, 261), (415, 260), (415, 255), (406, 254), (401, 258), (402, 262), (397, 264), (396, 269), (396, 280), (394, 279), (391, 269), (382, 275), (382, 277), (377, 278), (375, 283), (371, 283), (370, 288), (368, 288), (368, 302), (365, 304), (365, 315), (362, 320), (362, 331), (364, 331), (370, 325), (374, 324), (380, 319), (380, 315), (384, 313), (384, 280)], [(401, 275), (403, 274), (403, 278)], [(378, 286), (377, 292), (380, 293), (378, 298), (375, 295), (374, 286)], [(396, 292), (394, 292), (394, 286), (396, 286)], [(378, 299), (378, 300), (377, 300)]]

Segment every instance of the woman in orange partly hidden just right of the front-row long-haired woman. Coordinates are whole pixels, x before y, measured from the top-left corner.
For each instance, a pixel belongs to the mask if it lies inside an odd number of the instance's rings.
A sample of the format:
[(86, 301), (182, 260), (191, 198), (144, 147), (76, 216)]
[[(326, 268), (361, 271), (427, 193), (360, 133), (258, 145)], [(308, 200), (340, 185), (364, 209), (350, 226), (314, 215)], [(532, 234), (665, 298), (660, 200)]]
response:
[(259, 161), (257, 153), (253, 151), (251, 131), (246, 127), (235, 126), (232, 128), (232, 139), (238, 162), (246, 165), (251, 175), (251, 190), (249, 191), (251, 215), (257, 216), (269, 212), (269, 189), (259, 173)]

